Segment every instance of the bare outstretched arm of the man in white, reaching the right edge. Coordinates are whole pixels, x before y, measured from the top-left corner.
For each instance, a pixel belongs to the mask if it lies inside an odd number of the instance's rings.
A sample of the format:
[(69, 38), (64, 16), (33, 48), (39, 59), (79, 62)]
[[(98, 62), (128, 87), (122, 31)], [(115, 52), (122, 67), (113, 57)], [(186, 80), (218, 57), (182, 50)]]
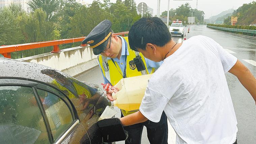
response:
[(243, 63), (237, 60), (235, 65), (228, 72), (235, 75), (241, 84), (250, 92), (256, 105), (256, 79), (251, 71)]

